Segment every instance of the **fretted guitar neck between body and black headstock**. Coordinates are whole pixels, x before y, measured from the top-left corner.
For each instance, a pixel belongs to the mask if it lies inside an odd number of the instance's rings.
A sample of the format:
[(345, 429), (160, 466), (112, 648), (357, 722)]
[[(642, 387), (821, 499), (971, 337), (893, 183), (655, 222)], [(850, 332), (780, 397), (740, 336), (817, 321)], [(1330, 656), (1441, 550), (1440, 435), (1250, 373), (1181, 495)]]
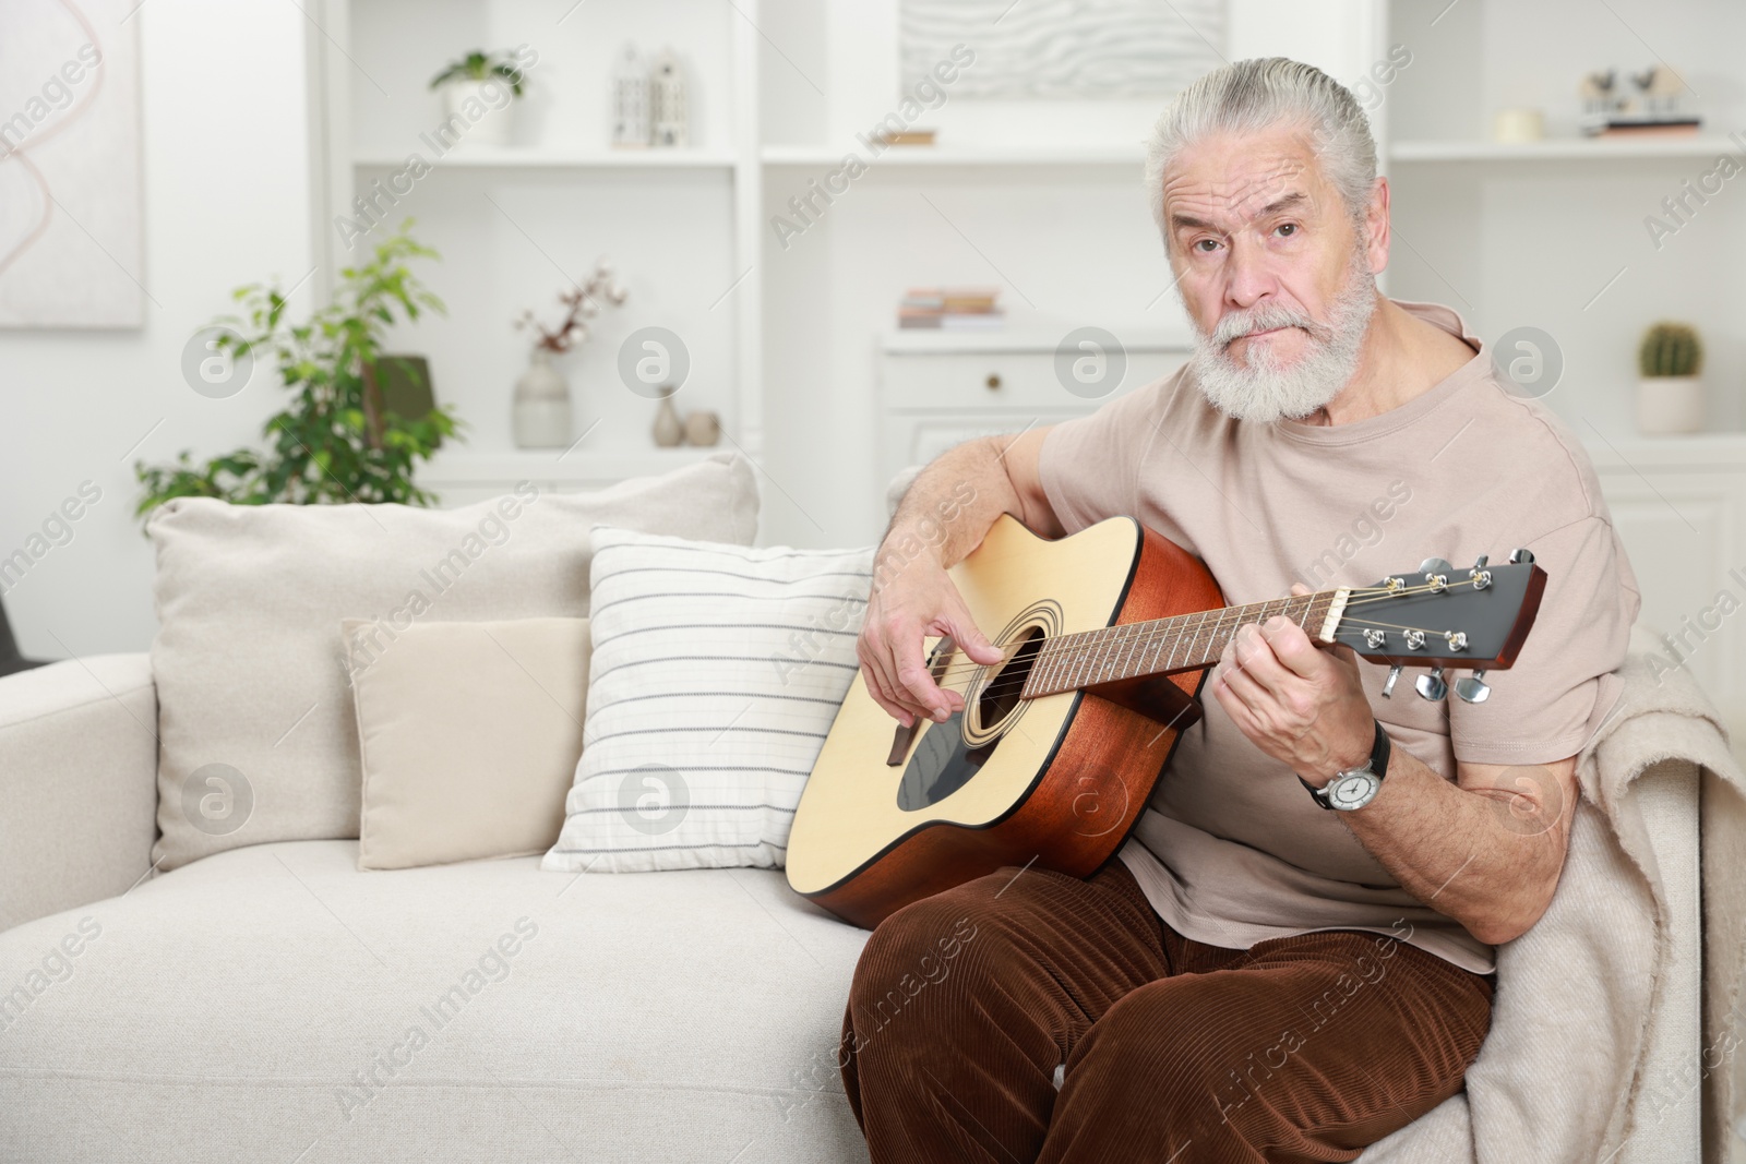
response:
[(1095, 688), (1142, 675), (1173, 675), (1219, 661), (1240, 627), (1283, 614), (1318, 642), (1332, 642), (1350, 590), (1320, 590), (1290, 599), (1177, 614), (1055, 635), (1025, 677), (1023, 700)]

